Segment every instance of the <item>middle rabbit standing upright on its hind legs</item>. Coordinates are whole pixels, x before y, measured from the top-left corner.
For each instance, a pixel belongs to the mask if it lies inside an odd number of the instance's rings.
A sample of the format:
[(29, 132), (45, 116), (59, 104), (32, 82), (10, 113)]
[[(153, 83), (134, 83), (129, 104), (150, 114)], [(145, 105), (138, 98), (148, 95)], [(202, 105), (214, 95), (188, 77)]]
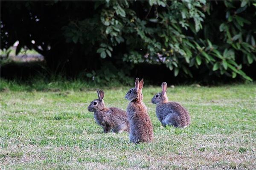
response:
[(125, 99), (130, 101), (127, 106), (127, 114), (130, 122), (130, 142), (152, 142), (154, 138), (153, 126), (147, 113), (147, 108), (143, 103), (143, 79), (136, 78), (135, 88), (131, 88), (125, 95)]

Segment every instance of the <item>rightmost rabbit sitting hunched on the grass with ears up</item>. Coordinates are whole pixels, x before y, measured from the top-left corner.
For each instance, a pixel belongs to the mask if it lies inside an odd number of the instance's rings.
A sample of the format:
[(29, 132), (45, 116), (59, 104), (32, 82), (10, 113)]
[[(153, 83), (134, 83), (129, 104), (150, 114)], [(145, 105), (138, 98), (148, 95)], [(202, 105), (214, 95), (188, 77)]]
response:
[(190, 124), (189, 112), (177, 102), (169, 102), (167, 98), (167, 83), (162, 83), (162, 92), (157, 93), (151, 99), (156, 104), (156, 114), (159, 121), (165, 127), (172, 125), (174, 127), (187, 127)]

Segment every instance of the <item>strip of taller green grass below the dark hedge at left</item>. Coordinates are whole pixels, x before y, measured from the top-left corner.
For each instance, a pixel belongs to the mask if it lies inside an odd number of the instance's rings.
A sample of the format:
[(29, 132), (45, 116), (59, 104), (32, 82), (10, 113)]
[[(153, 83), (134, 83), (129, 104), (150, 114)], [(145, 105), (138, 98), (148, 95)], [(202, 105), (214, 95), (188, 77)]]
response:
[[(128, 77), (127, 77), (128, 78)], [(130, 79), (130, 78), (128, 78)], [(77, 78), (73, 80), (64, 79), (59, 75), (53, 75), (52, 77), (46, 78), (45, 75), (33, 77), (28, 81), (24, 82), (19, 79), (14, 80), (0, 80), (0, 91), (88, 91), (95, 90), (96, 88), (110, 89), (113, 87), (120, 87), (122, 82), (112, 80), (105, 86), (98, 85), (103, 83), (96, 83), (95, 81), (85, 81), (83, 78)], [(134, 83), (131, 83), (134, 85)], [(122, 85), (123, 87), (123, 85)]]

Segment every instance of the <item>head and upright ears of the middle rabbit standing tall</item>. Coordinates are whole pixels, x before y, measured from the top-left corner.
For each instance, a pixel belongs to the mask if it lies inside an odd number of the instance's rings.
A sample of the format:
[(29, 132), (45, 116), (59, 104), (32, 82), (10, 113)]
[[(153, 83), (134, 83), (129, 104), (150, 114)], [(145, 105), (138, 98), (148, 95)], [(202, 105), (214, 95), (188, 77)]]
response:
[(135, 99), (137, 100), (143, 100), (143, 94), (142, 94), (142, 88), (143, 88), (143, 79), (140, 80), (139, 78), (136, 78), (135, 80), (135, 88), (131, 88), (127, 94), (125, 95), (125, 99), (128, 101), (133, 101)]

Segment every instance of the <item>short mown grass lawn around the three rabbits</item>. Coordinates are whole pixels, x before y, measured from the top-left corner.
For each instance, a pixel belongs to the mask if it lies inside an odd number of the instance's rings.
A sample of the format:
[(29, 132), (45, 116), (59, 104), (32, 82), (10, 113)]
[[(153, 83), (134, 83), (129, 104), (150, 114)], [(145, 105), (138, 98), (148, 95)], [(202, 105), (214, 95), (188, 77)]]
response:
[[(105, 90), (105, 104), (126, 109), (129, 87)], [(162, 127), (143, 89), (154, 142), (103, 134), (87, 106), (95, 89), (2, 89), (0, 169), (256, 169), (256, 85), (169, 88), (192, 117), (186, 129)]]

